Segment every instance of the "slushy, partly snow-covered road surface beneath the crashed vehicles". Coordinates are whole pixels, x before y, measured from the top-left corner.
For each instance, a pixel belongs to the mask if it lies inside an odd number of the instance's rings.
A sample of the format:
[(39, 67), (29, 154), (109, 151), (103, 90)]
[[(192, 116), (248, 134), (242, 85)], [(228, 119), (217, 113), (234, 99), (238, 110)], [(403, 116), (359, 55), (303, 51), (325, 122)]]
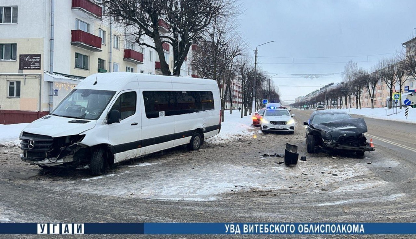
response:
[[(166, 150), (100, 177), (86, 169), (40, 169), (21, 162), (19, 149), (0, 148), (0, 222), (416, 222), (414, 125), (365, 118), (375, 152), (362, 159), (311, 155), (302, 123), (312, 111), (292, 113), (294, 135), (253, 128), (253, 136), (235, 142)], [(307, 161), (286, 167), (282, 158), (263, 156), (284, 153), (287, 142)], [(171, 238), (141, 238), (149, 237)], [(225, 236), (181, 238), (215, 237)]]

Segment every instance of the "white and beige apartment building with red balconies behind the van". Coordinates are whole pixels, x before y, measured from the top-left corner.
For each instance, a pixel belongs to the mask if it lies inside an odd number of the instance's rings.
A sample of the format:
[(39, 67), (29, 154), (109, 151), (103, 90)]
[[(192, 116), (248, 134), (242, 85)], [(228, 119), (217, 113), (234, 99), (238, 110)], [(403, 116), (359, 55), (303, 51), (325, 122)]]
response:
[[(138, 46), (102, 11), (89, 0), (0, 0), (1, 124), (48, 114), (97, 72), (161, 74), (156, 51)], [(164, 34), (166, 23), (159, 21)], [(165, 43), (163, 49), (167, 63), (173, 63), (171, 46)], [(185, 61), (181, 75), (189, 73)]]

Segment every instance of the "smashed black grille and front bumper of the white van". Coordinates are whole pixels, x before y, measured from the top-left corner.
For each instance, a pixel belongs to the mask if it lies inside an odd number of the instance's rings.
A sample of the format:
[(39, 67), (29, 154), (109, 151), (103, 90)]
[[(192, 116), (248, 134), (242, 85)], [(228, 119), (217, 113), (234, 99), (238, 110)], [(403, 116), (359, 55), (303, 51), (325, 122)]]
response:
[(32, 165), (45, 167), (81, 162), (84, 156), (82, 154), (88, 151), (87, 146), (79, 143), (83, 138), (84, 135), (52, 138), (24, 132), (20, 138), (20, 148), (23, 150), (20, 159)]

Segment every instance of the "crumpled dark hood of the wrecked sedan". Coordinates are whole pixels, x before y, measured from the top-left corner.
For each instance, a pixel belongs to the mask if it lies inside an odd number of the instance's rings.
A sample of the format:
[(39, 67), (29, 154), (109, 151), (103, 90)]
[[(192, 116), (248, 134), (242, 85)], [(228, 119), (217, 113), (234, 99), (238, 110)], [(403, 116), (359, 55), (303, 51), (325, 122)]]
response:
[(367, 125), (363, 118), (342, 119), (312, 126), (321, 131), (324, 140), (336, 139), (341, 135), (357, 137), (367, 132)]

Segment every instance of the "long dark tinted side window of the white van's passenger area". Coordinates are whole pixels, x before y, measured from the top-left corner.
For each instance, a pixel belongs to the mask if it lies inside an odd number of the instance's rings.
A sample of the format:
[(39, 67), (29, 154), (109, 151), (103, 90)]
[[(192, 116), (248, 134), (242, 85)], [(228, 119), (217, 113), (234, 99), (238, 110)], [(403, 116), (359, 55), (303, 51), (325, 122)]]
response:
[(210, 91), (144, 91), (144, 109), (147, 118), (195, 113), (214, 109)]

